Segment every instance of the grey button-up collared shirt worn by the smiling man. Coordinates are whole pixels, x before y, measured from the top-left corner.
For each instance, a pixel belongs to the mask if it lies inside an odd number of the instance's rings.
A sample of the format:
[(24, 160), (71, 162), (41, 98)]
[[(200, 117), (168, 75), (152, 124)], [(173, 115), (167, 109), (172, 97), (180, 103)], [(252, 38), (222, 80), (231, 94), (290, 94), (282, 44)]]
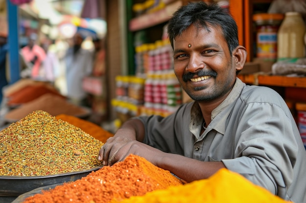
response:
[(148, 145), (200, 161), (222, 161), (273, 194), (306, 203), (306, 150), (291, 112), (274, 90), (237, 78), (202, 134), (197, 102), (165, 118), (138, 119), (146, 126)]

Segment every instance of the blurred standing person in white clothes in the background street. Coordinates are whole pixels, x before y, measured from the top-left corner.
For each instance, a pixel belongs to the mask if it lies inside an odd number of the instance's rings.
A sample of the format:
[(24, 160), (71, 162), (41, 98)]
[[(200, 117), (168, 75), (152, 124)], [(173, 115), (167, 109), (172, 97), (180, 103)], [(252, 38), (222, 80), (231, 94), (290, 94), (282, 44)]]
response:
[(67, 97), (80, 106), (87, 105), (87, 93), (83, 90), (82, 81), (91, 74), (93, 66), (93, 52), (82, 48), (86, 37), (84, 29), (79, 28), (73, 37), (73, 46), (65, 56)]

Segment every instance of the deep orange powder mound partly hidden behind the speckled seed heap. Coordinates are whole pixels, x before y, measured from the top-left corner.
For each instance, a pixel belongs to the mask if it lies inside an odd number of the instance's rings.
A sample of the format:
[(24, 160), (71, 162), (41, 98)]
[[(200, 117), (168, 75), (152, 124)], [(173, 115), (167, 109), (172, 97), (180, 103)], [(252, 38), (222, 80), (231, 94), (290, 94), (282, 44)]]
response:
[(109, 131), (101, 128), (100, 126), (91, 123), (89, 121), (86, 121), (84, 119), (72, 116), (72, 115), (67, 115), (67, 114), (59, 114), (55, 116), (57, 119), (61, 119), (63, 121), (66, 121), (75, 127), (78, 127), (82, 129), (84, 132), (88, 133), (92, 137), (96, 138), (97, 140), (100, 140), (103, 143), (106, 143), (106, 140), (109, 137), (112, 137), (113, 134), (110, 133)]

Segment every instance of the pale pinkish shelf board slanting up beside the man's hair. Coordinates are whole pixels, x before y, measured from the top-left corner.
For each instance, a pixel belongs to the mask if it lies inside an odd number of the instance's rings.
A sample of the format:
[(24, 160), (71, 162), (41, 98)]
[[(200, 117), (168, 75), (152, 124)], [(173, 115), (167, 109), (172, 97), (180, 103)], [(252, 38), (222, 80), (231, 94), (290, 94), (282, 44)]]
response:
[(134, 32), (167, 22), (181, 5), (183, 5), (183, 0), (176, 0), (157, 12), (133, 18), (130, 20), (129, 29)]

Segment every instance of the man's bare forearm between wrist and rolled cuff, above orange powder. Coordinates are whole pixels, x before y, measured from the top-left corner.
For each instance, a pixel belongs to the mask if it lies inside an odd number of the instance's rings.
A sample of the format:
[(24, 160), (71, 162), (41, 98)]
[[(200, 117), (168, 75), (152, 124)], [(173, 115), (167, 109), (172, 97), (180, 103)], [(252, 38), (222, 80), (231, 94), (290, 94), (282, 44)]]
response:
[(222, 162), (203, 162), (169, 153), (159, 160), (157, 166), (169, 170), (187, 182), (209, 178), (220, 168), (225, 167)]

